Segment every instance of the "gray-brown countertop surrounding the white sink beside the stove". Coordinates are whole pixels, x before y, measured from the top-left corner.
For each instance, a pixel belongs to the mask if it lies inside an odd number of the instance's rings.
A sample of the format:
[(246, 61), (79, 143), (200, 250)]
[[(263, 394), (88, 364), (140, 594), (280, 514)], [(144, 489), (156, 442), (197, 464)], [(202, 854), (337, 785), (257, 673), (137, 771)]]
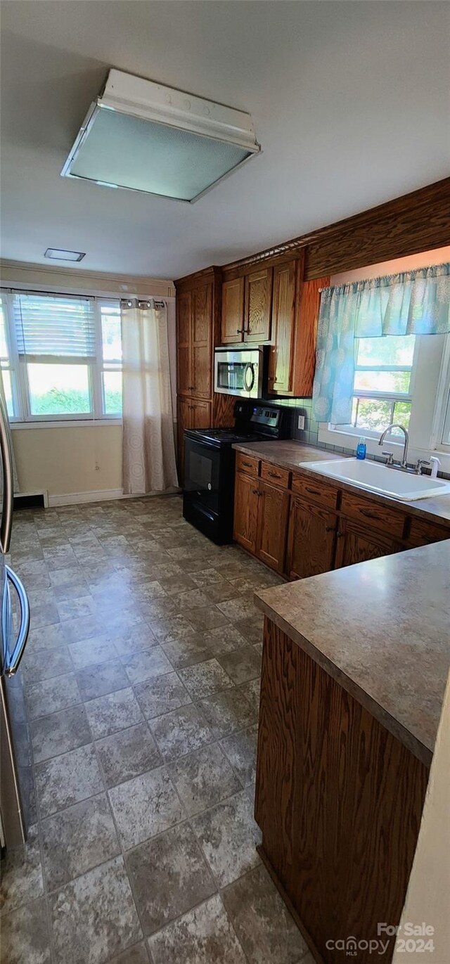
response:
[(311, 478), (321, 478), (328, 485), (334, 485), (339, 489), (346, 489), (349, 492), (364, 493), (367, 498), (375, 502), (383, 502), (392, 507), (405, 509), (412, 516), (421, 516), (429, 522), (442, 522), (450, 525), (450, 495), (437, 495), (434, 498), (421, 498), (414, 502), (404, 501), (400, 498), (392, 498), (389, 495), (380, 495), (375, 492), (367, 492), (358, 485), (351, 482), (342, 482), (340, 479), (331, 479), (302, 466), (303, 462), (331, 462), (336, 459), (345, 459), (347, 456), (342, 453), (329, 452), (327, 449), (314, 448), (304, 442), (237, 442), (233, 445), (238, 452), (245, 452), (246, 455), (264, 459), (273, 465), (282, 466), (284, 469), (292, 469), (309, 475)]

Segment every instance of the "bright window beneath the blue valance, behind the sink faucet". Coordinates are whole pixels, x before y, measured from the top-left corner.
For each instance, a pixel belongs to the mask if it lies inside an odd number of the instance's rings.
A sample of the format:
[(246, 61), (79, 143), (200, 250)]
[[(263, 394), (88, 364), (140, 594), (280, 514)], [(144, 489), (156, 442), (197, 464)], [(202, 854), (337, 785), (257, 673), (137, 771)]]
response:
[(395, 421), (409, 428), (415, 340), (414, 335), (357, 338), (354, 429), (380, 433)]

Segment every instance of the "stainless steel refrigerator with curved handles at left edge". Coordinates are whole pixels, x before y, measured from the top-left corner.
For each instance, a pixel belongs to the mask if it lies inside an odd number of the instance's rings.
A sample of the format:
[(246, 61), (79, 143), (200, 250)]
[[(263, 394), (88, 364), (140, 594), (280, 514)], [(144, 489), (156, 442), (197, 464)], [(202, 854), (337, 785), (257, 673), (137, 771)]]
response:
[(25, 589), (5, 556), (13, 527), (13, 460), (8, 425), (0, 398), (0, 846), (26, 840), (35, 819), (30, 732), (23, 684), (18, 671), (30, 629)]

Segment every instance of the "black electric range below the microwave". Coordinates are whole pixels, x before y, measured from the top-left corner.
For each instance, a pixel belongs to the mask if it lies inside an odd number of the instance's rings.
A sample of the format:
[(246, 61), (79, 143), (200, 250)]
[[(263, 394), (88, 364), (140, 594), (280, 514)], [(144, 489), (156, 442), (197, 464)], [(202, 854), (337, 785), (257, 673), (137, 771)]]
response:
[(232, 541), (235, 442), (288, 437), (285, 409), (238, 401), (231, 428), (185, 429), (183, 516), (200, 532), (223, 545)]

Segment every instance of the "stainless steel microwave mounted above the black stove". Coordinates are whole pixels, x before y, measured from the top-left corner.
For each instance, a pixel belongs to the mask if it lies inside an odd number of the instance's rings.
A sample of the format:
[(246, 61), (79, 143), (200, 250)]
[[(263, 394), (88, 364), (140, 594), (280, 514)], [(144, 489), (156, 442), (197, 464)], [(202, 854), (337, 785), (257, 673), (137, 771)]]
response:
[(261, 398), (265, 377), (265, 353), (261, 348), (216, 348), (214, 390), (225, 395)]

